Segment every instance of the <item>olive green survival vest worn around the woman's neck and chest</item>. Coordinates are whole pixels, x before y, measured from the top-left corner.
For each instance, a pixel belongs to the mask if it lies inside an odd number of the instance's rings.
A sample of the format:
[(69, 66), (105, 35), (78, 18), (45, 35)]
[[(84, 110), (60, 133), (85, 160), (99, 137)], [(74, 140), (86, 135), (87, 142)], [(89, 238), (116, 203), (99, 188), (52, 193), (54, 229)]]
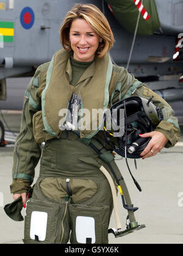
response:
[[(66, 77), (66, 65), (70, 53), (61, 49), (52, 57), (46, 74), (46, 87), (41, 95), (43, 124), (51, 136), (60, 134), (59, 121), (64, 119), (63, 109), (68, 109), (73, 93), (81, 95), (81, 110), (89, 111), (90, 119), (82, 115), (82, 123), (87, 123), (87, 129), (81, 129), (80, 136), (90, 139), (102, 126), (99, 115), (93, 116), (93, 109), (105, 111), (109, 104), (109, 84), (112, 76), (113, 65), (108, 54), (96, 58), (79, 79), (77, 86), (69, 84)], [(88, 117), (88, 115), (87, 115)], [(96, 122), (96, 129), (92, 130), (92, 123)], [(85, 126), (86, 127), (86, 126)]]

